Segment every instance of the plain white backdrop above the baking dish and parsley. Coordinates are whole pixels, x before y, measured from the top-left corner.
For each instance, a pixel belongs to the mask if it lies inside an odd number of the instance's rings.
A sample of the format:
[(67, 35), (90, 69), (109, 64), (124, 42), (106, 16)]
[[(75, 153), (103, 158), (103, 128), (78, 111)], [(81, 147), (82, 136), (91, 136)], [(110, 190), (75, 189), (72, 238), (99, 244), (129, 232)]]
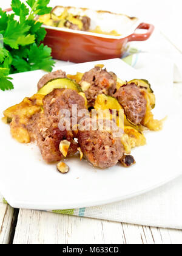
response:
[[(22, 2), (25, 2), (23, 0)], [(10, 7), (11, 0), (0, 0), (2, 9)], [(72, 5), (96, 10), (110, 10), (137, 16), (144, 22), (155, 24), (182, 52), (181, 0), (50, 0), (50, 5)]]

